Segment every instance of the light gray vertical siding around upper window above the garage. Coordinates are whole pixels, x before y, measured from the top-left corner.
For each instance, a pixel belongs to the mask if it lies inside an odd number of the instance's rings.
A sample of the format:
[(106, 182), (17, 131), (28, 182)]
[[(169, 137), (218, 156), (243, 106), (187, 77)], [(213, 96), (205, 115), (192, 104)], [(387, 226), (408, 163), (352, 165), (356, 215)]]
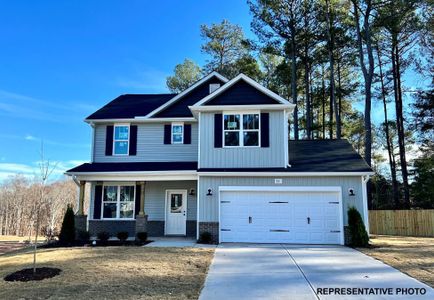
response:
[[(265, 111), (264, 111), (265, 112)], [(271, 111), (270, 147), (214, 148), (214, 113), (200, 114), (200, 168), (285, 166), (284, 113)]]

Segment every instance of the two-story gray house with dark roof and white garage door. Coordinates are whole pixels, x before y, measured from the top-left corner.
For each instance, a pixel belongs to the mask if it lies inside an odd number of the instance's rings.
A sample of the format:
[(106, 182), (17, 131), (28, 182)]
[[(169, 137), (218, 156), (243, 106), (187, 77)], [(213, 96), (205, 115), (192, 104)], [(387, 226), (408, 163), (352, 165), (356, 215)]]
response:
[(80, 182), (79, 226), (92, 236), (344, 244), (348, 207), (368, 225), (372, 170), (346, 140), (289, 140), (294, 106), (216, 72), (179, 94), (119, 96), (85, 120), (91, 162), (67, 171)]

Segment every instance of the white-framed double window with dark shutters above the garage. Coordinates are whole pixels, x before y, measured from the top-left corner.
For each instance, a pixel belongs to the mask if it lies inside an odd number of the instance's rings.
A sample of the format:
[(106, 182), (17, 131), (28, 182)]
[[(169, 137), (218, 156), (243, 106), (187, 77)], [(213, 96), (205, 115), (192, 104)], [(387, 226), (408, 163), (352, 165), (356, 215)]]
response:
[(260, 117), (257, 112), (223, 114), (224, 147), (259, 147)]

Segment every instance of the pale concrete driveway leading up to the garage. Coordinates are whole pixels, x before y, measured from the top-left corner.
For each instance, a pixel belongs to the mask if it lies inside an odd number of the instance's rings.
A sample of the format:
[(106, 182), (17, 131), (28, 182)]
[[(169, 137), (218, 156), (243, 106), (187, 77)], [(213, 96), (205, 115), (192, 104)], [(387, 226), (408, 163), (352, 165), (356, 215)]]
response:
[[(326, 290), (330, 288), (334, 290)], [(339, 288), (358, 288), (359, 294), (342, 295)], [(199, 299), (396, 298), (434, 299), (434, 291), (347, 247), (222, 244), (216, 249)]]

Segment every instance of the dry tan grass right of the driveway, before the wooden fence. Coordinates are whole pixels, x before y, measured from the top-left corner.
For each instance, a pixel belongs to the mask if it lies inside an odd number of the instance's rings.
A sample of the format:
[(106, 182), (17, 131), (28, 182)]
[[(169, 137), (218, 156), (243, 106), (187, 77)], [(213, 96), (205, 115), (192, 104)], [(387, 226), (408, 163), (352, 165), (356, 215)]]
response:
[(371, 243), (358, 250), (434, 287), (434, 238), (377, 235)]

